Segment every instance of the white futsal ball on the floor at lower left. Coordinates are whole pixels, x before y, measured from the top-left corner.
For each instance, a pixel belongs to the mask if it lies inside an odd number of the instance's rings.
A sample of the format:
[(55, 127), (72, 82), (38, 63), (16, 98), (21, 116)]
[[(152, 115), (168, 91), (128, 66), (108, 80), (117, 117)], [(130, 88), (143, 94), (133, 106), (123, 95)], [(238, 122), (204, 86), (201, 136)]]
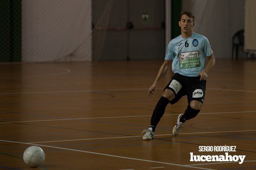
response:
[(30, 146), (23, 153), (23, 160), (30, 167), (41, 165), (44, 162), (44, 159), (44, 151), (38, 146)]

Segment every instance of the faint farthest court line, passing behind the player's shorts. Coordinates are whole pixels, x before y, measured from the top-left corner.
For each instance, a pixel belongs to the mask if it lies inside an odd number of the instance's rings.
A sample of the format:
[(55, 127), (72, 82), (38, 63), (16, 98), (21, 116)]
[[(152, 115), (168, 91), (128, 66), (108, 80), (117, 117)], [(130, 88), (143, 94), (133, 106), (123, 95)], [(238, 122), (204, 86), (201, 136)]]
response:
[[(155, 88), (155, 89), (163, 89), (163, 88)], [(207, 89), (208, 90), (222, 90), (222, 91), (235, 91), (235, 92), (256, 93), (256, 91), (250, 91), (250, 90), (219, 89), (219, 88), (207, 88)], [(7, 94), (40, 94), (40, 93), (73, 93), (73, 92), (102, 92), (102, 91), (130, 91), (130, 90), (148, 90), (148, 88), (141, 88), (141, 89), (106, 89), (106, 90), (70, 90), (70, 91), (19, 92), (19, 93), (0, 93), (0, 95), (7, 95)]]

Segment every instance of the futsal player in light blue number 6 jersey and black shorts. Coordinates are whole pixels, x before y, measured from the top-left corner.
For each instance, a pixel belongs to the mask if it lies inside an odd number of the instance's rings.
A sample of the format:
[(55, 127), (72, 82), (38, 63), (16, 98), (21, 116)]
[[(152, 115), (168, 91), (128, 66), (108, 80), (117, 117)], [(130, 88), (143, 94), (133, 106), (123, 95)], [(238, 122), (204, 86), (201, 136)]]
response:
[[(184, 114), (180, 114), (177, 123), (172, 129), (172, 134), (177, 136), (187, 120), (190, 120), (200, 112), (205, 99), (207, 73), (213, 68), (215, 58), (208, 39), (193, 32), (195, 17), (191, 12), (180, 13), (179, 26), (181, 35), (172, 39), (168, 44), (165, 61), (162, 64), (156, 79), (148, 90), (151, 97), (159, 80), (166, 74), (169, 67), (175, 73), (170, 82), (164, 88), (164, 94), (157, 102), (153, 111), (150, 127), (143, 132), (146, 134), (143, 140), (154, 138), (157, 124), (170, 103), (175, 104), (182, 96), (187, 96), (188, 105)], [(209, 60), (205, 67), (205, 59)], [(142, 133), (143, 133), (142, 132)]]

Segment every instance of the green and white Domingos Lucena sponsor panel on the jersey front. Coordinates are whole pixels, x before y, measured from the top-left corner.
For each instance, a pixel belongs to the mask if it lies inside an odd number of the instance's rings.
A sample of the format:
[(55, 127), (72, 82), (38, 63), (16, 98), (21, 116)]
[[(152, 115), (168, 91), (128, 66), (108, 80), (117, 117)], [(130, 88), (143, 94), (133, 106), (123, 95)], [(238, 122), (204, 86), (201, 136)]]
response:
[(199, 51), (179, 53), (180, 69), (200, 67)]

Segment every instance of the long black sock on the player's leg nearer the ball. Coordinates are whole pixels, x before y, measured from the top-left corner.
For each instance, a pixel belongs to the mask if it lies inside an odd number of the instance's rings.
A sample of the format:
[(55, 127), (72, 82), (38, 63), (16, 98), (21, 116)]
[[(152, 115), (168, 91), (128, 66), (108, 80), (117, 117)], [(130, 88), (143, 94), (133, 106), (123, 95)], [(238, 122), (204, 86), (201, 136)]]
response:
[(169, 102), (170, 100), (163, 96), (157, 102), (150, 121), (150, 127), (153, 129), (153, 132), (155, 132), (156, 125), (164, 115), (165, 108)]

